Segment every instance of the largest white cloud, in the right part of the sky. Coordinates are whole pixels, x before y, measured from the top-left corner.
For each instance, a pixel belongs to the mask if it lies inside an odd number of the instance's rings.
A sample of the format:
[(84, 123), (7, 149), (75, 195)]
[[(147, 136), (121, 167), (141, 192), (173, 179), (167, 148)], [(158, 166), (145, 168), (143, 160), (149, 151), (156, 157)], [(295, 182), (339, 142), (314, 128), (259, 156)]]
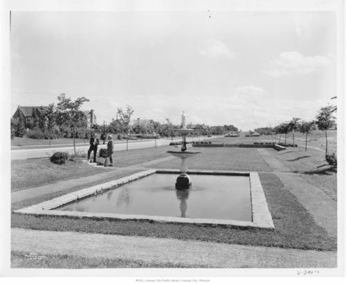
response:
[(330, 56), (304, 56), (298, 51), (286, 51), (277, 60), (270, 62), (263, 72), (272, 77), (294, 76), (309, 74), (331, 64)]

